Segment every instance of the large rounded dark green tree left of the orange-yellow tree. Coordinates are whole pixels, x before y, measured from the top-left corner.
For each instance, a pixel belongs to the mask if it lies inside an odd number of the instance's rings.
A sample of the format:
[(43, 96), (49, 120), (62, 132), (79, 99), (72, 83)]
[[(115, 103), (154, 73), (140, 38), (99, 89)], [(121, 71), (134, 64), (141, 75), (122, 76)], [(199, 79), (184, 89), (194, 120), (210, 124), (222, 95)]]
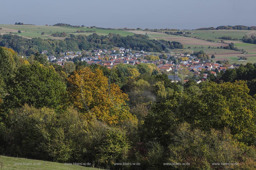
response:
[(45, 67), (35, 62), (23, 64), (16, 76), (8, 84), (8, 97), (5, 105), (20, 107), (25, 103), (40, 108), (57, 107), (66, 93), (65, 84), (53, 67)]

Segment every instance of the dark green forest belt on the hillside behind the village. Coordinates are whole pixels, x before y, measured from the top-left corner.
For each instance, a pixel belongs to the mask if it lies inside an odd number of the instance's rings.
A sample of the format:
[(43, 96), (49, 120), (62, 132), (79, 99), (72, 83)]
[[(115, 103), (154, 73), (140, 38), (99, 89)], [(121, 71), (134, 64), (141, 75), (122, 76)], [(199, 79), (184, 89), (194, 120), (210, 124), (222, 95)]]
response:
[[(52, 36), (65, 37), (66, 33), (54, 33)], [(135, 34), (134, 36), (122, 37), (119, 34), (109, 33), (108, 36), (99, 36), (96, 33), (92, 35), (73, 35), (65, 40), (41, 38), (24, 38), (18, 35), (4, 34), (0, 35), (0, 46), (12, 48), (21, 55), (31, 56), (41, 50), (52, 51), (59, 54), (63, 51), (79, 51), (90, 49), (111, 49), (114, 47), (124, 47), (133, 50), (145, 50), (149, 52), (162, 52), (163, 50), (184, 48), (179, 42), (165, 40), (150, 40), (147, 35)], [(52, 53), (52, 54), (54, 54)], [(54, 54), (54, 55), (55, 55)]]

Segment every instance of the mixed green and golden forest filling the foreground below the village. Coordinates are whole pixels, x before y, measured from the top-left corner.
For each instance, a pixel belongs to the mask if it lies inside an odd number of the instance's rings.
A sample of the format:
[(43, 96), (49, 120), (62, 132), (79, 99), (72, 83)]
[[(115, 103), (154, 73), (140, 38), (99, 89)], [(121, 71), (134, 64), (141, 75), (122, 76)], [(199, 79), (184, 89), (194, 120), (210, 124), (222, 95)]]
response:
[(107, 169), (255, 169), (256, 63), (200, 84), (182, 71), (190, 80), (172, 83), (153, 64), (62, 68), (6, 47), (0, 65), (1, 155)]

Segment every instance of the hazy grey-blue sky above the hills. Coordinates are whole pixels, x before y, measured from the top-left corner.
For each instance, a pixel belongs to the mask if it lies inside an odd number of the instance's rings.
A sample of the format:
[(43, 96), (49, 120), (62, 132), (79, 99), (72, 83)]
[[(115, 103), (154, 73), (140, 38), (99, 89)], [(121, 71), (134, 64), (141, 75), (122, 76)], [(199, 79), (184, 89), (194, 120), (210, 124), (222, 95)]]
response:
[(8, 0), (0, 4), (0, 24), (150, 29), (256, 26), (256, 0)]

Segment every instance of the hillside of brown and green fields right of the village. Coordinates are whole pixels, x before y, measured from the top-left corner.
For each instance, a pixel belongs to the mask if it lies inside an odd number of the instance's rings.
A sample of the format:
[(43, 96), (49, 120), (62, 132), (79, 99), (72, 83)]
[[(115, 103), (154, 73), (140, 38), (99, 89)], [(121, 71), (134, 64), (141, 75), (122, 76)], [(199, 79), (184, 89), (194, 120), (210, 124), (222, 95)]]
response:
[[(238, 59), (242, 57), (246, 57), (247, 61), (239, 61), (239, 64), (246, 64), (247, 62), (256, 62), (256, 45), (248, 44), (242, 42), (242, 37), (246, 34), (250, 37), (255, 33), (253, 30), (194, 30), (190, 31), (193, 34), (187, 34), (187, 36), (179, 36), (179, 35), (168, 35), (163, 32), (149, 32), (149, 31), (130, 31), (135, 34), (143, 34), (143, 32), (147, 33), (150, 39), (156, 40), (167, 40), (167, 41), (178, 41), (185, 46), (185, 49), (175, 49), (172, 50), (172, 53), (183, 53), (194, 51), (204, 50), (208, 55), (215, 55), (215, 59), (213, 61), (218, 60), (228, 60), (230, 63), (238, 63)], [(176, 31), (172, 31), (176, 32)], [(232, 38), (238, 38), (238, 41), (233, 40), (224, 40), (225, 43), (221, 43), (221, 39), (218, 37), (222, 36), (230, 36)], [(217, 37), (217, 38), (216, 38)], [(211, 41), (206, 41), (211, 40)], [(214, 42), (213, 42), (214, 41)], [(227, 46), (228, 43), (233, 42), (237, 48), (244, 49), (247, 53), (242, 54), (240, 51), (228, 50), (228, 49), (219, 49), (217, 47)], [(209, 46), (211, 48), (209, 48)]]

